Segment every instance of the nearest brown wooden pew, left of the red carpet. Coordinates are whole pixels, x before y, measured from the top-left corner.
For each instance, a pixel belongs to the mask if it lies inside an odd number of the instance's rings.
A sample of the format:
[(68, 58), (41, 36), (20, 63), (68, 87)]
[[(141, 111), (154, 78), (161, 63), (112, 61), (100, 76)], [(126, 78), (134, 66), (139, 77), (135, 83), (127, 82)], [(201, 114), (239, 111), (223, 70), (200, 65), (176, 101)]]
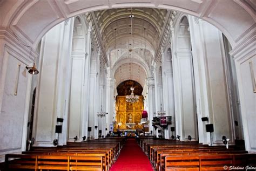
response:
[[(10, 159), (15, 159), (11, 160)], [(5, 156), (6, 170), (104, 170), (103, 156), (26, 155)]]

